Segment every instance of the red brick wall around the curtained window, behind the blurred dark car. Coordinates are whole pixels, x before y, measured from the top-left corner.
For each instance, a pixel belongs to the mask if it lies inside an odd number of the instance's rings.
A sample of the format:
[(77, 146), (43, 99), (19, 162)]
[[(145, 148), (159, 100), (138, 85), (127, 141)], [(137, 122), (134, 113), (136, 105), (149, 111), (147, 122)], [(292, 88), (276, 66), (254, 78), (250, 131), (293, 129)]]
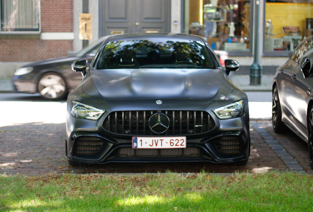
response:
[[(73, 0), (41, 0), (40, 15), (41, 32), (73, 32)], [(31, 62), (66, 56), (72, 49), (72, 40), (0, 34), (0, 62)]]

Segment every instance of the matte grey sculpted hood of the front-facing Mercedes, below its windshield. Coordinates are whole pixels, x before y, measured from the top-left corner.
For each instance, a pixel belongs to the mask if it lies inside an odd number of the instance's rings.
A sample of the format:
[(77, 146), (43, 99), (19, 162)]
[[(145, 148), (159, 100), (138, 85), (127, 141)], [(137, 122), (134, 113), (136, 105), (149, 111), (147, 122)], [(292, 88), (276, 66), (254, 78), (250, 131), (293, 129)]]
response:
[(101, 99), (213, 99), (233, 86), (220, 69), (109, 69), (92, 70), (84, 93)]

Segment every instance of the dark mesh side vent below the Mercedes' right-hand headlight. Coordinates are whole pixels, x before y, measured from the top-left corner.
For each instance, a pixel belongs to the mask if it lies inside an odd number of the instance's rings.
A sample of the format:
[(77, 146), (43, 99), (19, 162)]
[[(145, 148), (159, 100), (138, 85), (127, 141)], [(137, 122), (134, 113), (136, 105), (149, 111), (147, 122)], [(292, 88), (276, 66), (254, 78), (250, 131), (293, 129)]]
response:
[(238, 135), (223, 135), (214, 140), (221, 154), (241, 154), (241, 138)]

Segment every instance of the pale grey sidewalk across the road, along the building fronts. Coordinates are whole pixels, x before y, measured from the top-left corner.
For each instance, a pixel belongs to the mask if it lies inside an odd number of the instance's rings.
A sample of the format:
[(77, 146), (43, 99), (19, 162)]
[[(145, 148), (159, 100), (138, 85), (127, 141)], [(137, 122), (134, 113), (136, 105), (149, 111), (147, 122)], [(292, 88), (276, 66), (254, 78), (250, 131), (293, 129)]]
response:
[[(249, 75), (233, 74), (229, 76), (232, 82), (243, 91), (272, 91), (273, 75), (262, 75), (261, 85), (250, 85)], [(0, 79), (0, 93), (13, 92), (11, 79)]]

